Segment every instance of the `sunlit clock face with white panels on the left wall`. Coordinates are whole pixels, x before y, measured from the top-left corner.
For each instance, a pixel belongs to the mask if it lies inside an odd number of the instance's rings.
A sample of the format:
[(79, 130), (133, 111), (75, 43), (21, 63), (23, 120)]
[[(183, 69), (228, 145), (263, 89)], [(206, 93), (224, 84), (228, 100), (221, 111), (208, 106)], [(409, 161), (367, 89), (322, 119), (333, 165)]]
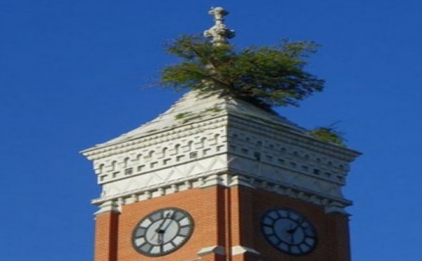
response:
[(191, 215), (179, 208), (162, 208), (139, 221), (132, 234), (132, 245), (143, 255), (167, 255), (183, 246), (192, 232)]

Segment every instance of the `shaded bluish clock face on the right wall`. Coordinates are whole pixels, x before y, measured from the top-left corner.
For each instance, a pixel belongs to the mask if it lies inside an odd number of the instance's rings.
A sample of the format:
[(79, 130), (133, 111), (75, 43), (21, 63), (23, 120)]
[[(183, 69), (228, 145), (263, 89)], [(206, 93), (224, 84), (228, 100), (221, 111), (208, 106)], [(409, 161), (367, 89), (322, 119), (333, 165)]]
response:
[(261, 231), (272, 246), (288, 255), (306, 255), (316, 247), (314, 227), (295, 210), (268, 210), (262, 216)]

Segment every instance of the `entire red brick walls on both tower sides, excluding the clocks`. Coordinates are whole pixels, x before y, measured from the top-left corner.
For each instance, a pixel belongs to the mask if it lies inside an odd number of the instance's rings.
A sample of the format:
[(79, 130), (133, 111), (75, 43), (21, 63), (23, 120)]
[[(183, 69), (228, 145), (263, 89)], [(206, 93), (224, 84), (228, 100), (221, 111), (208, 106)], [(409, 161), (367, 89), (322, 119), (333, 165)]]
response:
[[(139, 220), (155, 210), (170, 207), (184, 209), (192, 215), (195, 227), (191, 239), (163, 257), (146, 257), (136, 252), (132, 247), (132, 231)], [(260, 220), (262, 213), (270, 208), (293, 208), (305, 215), (319, 236), (316, 249), (309, 255), (292, 257), (267, 243), (260, 231)], [(260, 252), (260, 258), (271, 261), (350, 261), (347, 226), (346, 215), (327, 215), (321, 206), (259, 189), (190, 189), (128, 204), (122, 207), (120, 215), (98, 215), (95, 261), (192, 261), (198, 258), (201, 248), (209, 246), (224, 246), (229, 256), (232, 246), (245, 246)], [(208, 255), (201, 260), (226, 261), (226, 257)], [(260, 259), (250, 254), (231, 258), (231, 261), (255, 260)]]

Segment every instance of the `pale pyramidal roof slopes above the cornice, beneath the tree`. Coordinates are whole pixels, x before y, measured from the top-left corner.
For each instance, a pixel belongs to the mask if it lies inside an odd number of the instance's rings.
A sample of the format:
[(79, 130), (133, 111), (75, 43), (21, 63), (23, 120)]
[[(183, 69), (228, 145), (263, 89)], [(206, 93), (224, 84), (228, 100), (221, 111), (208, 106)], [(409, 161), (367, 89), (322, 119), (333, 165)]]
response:
[(291, 131), (305, 133), (304, 128), (300, 128), (295, 123), (276, 114), (276, 112), (268, 112), (249, 102), (221, 95), (221, 93), (190, 91), (175, 102), (170, 109), (152, 121), (135, 128), (133, 131), (124, 133), (113, 140), (87, 149), (84, 152), (136, 140), (148, 135), (169, 131), (186, 124), (198, 123), (222, 115), (238, 116), (255, 122), (272, 123), (287, 127)]

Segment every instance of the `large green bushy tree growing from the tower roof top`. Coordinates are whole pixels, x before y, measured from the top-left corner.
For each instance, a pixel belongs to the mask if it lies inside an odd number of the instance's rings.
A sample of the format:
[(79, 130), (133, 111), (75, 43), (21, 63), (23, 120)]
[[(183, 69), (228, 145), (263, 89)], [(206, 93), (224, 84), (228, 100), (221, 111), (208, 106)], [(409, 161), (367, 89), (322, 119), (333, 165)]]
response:
[(324, 88), (324, 80), (304, 70), (303, 59), (315, 50), (313, 42), (285, 40), (279, 46), (236, 51), (201, 36), (181, 36), (167, 45), (167, 51), (181, 62), (162, 69), (160, 84), (177, 90), (222, 91), (265, 109), (298, 105)]

